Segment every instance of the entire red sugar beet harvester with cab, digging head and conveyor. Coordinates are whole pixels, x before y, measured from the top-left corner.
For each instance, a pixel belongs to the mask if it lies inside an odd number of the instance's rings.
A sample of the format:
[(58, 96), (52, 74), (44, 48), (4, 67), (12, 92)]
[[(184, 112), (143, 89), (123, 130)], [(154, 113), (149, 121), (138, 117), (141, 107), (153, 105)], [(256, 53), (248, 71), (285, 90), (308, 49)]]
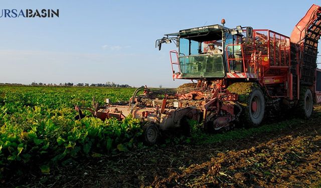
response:
[[(321, 8), (312, 5), (291, 37), (267, 29), (229, 29), (224, 20), (222, 24), (181, 30), (156, 40), (159, 50), (163, 43), (177, 45), (178, 51), (170, 51), (173, 79), (196, 80), (195, 84), (172, 90), (138, 88), (122, 105), (76, 106), (79, 118), (81, 110), (102, 120), (132, 115), (144, 123), (149, 144), (157, 141), (159, 132), (188, 133), (189, 119), (206, 130), (218, 130), (237, 122), (259, 125), (264, 117), (281, 111), (309, 118), (313, 100), (321, 102), (321, 70), (316, 69)], [(219, 50), (212, 53), (211, 46)]]

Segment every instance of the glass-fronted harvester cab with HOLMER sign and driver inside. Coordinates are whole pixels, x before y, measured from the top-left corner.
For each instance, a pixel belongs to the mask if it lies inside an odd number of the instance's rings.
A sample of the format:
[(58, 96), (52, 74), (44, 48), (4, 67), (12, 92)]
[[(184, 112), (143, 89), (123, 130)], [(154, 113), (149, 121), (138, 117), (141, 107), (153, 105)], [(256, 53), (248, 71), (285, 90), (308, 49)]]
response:
[(155, 47), (160, 50), (162, 43), (177, 44), (178, 51), (170, 51), (173, 79), (213, 80), (230, 73), (256, 73), (250, 62), (244, 61), (242, 48), (242, 42), (252, 41), (251, 27), (211, 25), (165, 36), (156, 40)]

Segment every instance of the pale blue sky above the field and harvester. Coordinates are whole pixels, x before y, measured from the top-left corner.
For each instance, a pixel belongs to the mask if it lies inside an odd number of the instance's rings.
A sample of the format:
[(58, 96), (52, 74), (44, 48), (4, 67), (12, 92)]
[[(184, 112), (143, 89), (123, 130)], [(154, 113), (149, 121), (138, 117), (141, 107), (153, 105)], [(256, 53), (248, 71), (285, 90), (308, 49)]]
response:
[(224, 18), (229, 28), (290, 36), (312, 4), (321, 1), (2, 1), (1, 9), (60, 13), (59, 18), (0, 18), (0, 83), (176, 87), (184, 81), (172, 79), (169, 51), (175, 45), (154, 48), (164, 34)]

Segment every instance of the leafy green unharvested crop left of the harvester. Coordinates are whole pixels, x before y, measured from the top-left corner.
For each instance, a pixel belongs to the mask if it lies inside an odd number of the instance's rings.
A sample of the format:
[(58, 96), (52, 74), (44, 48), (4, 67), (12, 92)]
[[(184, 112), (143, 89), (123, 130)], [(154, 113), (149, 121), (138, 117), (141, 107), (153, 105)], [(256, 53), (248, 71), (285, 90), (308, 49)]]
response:
[[(75, 120), (75, 105), (91, 107), (127, 101), (134, 89), (89, 87), (0, 87), (0, 168), (38, 166), (50, 171), (59, 161), (99, 156), (135, 147), (142, 132), (138, 120), (106, 122), (94, 117)], [(20, 170), (20, 169), (18, 169)]]

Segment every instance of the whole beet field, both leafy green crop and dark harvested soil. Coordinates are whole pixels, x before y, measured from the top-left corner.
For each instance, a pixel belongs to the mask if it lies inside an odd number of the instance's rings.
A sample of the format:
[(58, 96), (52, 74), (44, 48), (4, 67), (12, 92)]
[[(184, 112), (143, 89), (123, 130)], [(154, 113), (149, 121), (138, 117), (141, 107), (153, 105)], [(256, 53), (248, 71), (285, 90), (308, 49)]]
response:
[(134, 90), (0, 86), (0, 186), (319, 186), (321, 106), (309, 120), (215, 134), (189, 121), (189, 137), (152, 147), (143, 146), (138, 119), (74, 119), (76, 105), (128, 101)]

